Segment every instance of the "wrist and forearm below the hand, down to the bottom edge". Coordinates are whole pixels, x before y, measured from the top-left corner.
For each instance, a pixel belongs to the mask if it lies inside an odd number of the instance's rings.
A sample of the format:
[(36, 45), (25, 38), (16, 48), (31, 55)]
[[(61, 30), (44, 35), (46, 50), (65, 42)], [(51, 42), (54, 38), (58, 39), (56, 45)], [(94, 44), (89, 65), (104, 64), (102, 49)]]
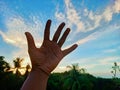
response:
[(21, 90), (46, 90), (48, 78), (41, 70), (32, 69)]

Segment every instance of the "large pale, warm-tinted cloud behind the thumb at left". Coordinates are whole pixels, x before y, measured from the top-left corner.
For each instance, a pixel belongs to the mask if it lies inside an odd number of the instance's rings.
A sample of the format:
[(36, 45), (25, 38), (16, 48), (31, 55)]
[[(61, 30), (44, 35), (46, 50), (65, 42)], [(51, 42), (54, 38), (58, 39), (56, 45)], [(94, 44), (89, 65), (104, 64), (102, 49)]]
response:
[(40, 33), (40, 28), (42, 27), (41, 22), (35, 17), (33, 17), (32, 20), (33, 22), (26, 22), (20, 16), (10, 17), (5, 22), (7, 31), (0, 31), (0, 35), (6, 43), (19, 48), (17, 52), (13, 51), (13, 57), (20, 56), (28, 58), (27, 41), (24, 35), (26, 31), (31, 32), (35, 37), (34, 39), (37, 46), (41, 44), (42, 38), (40, 38), (38, 34)]

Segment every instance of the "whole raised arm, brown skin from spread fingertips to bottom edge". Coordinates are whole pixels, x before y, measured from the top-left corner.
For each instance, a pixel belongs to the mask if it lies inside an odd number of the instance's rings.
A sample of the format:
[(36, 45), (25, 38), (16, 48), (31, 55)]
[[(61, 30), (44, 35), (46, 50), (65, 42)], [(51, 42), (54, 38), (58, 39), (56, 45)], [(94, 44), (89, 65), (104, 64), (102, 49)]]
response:
[(59, 39), (61, 31), (65, 26), (65, 23), (61, 23), (57, 28), (53, 39), (50, 40), (50, 26), (51, 20), (48, 20), (44, 30), (44, 40), (40, 48), (35, 46), (32, 35), (29, 32), (25, 33), (32, 70), (21, 90), (46, 90), (50, 73), (56, 68), (63, 57), (77, 47), (77, 44), (74, 44), (65, 50), (61, 50), (61, 47), (70, 32), (70, 28), (67, 28)]

